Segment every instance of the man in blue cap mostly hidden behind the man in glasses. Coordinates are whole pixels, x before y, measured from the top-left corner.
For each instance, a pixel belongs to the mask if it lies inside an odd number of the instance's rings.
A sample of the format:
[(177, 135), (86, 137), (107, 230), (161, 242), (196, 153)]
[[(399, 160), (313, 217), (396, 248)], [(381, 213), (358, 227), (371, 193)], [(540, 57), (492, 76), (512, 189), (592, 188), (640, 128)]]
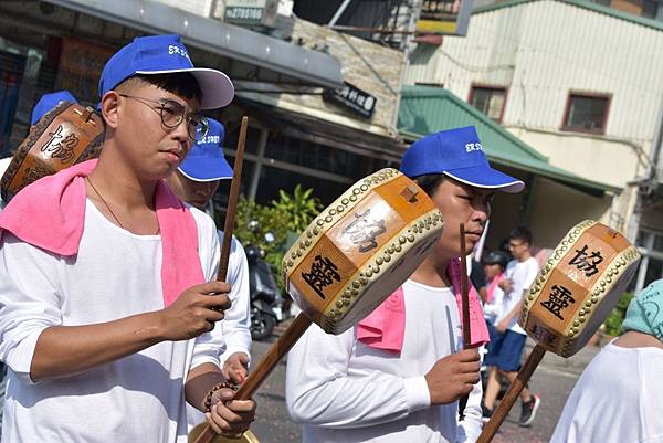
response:
[[(221, 180), (232, 179), (232, 168), (223, 157), (223, 125), (208, 118), (207, 135), (198, 140), (175, 173), (168, 177), (168, 184), (180, 200), (206, 210), (217, 193)], [(219, 230), (219, 243), (223, 231)], [(219, 357), (223, 375), (233, 383), (240, 384), (246, 377), (251, 355), (251, 318), (249, 299), (249, 265), (242, 244), (233, 236), (230, 243), (228, 275), (231, 291), (228, 294), (232, 305), (212, 334), (223, 333), (225, 350)], [(204, 421), (204, 415), (190, 404), (187, 407), (190, 426)]]

